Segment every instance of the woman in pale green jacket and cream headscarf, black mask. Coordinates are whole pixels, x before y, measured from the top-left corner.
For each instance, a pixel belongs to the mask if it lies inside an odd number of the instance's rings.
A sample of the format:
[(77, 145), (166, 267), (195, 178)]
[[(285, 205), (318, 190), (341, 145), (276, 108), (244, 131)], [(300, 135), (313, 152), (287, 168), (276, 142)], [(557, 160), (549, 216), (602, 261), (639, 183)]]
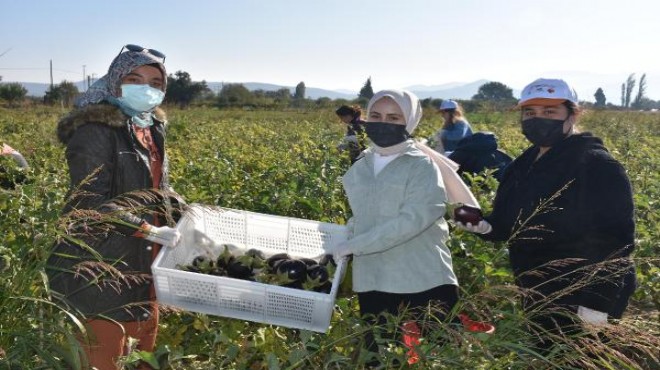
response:
[[(372, 324), (384, 325), (383, 313), (399, 315), (402, 309), (415, 320), (417, 310), (429, 303), (442, 319), (458, 301), (458, 280), (445, 245), (443, 179), (410, 138), (421, 117), (420, 102), (408, 91), (374, 94), (366, 126), (371, 144), (342, 179), (353, 213), (347, 223), (351, 237), (328, 252), (337, 259), (353, 256), (353, 290), (360, 314)], [(378, 350), (372, 334), (366, 347)]]

